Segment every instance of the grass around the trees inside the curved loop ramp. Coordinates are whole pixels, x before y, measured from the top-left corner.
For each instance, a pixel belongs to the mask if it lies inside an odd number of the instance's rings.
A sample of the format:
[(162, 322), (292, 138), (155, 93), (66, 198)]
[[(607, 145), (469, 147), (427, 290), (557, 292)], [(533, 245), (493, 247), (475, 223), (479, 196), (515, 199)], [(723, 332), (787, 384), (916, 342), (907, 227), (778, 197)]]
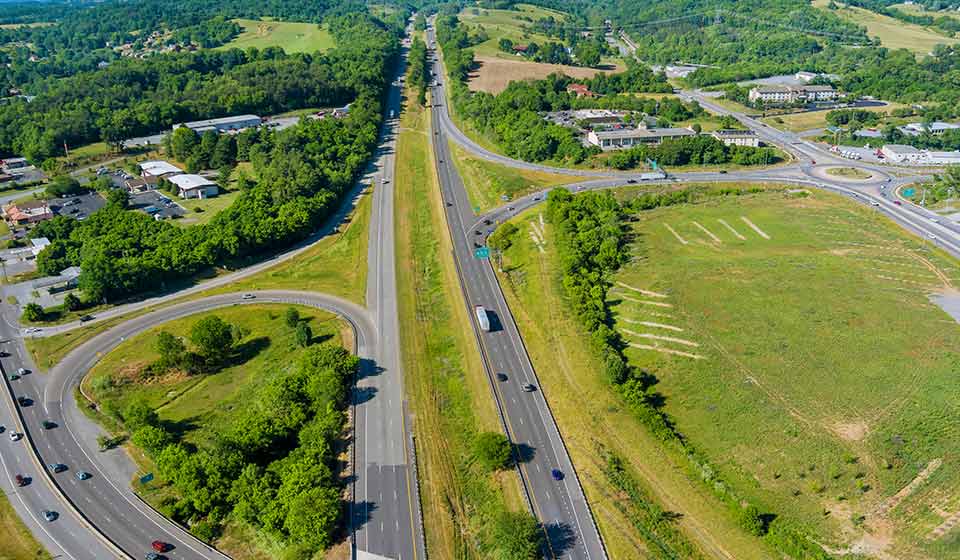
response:
[[(161, 421), (174, 433), (181, 434), (184, 441), (198, 447), (209, 446), (218, 431), (230, 423), (232, 411), (242, 407), (258, 387), (294, 364), (304, 351), (296, 344), (293, 329), (284, 322), (287, 307), (280, 304), (228, 307), (150, 329), (104, 356), (84, 378), (84, 393), (97, 401), (101, 409), (123, 410), (128, 403), (142, 399), (155, 408)], [(301, 320), (313, 329), (315, 344), (352, 346), (352, 332), (338, 317), (312, 307), (297, 309)], [(159, 357), (154, 348), (159, 331), (189, 337), (190, 327), (209, 315), (217, 315), (248, 332), (238, 344), (233, 365), (207, 375), (173, 372), (157, 379), (138, 378), (138, 373)], [(116, 428), (114, 422), (97, 416), (107, 427)], [(156, 472), (141, 451), (132, 447), (130, 451), (142, 472)], [(146, 485), (135, 482), (134, 486), (155, 507), (175, 492), (160, 479)], [(282, 543), (264, 540), (244, 542), (237, 534), (243, 534), (245, 528), (234, 525), (228, 524), (227, 540), (214, 543), (233, 558), (272, 558), (283, 548)]]

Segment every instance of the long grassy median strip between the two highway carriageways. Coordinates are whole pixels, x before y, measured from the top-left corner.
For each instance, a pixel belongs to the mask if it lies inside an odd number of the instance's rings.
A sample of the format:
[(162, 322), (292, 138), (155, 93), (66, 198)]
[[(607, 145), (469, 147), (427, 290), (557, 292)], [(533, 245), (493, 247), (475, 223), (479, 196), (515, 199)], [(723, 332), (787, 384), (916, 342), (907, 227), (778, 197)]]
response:
[[(411, 97), (412, 99), (412, 97)], [(479, 431), (500, 432), (490, 387), (450, 258), (429, 144), (429, 115), (401, 119), (396, 223), (404, 383), (415, 418), (427, 547), (436, 558), (479, 558), (490, 517), (525, 509), (513, 471), (472, 458)]]

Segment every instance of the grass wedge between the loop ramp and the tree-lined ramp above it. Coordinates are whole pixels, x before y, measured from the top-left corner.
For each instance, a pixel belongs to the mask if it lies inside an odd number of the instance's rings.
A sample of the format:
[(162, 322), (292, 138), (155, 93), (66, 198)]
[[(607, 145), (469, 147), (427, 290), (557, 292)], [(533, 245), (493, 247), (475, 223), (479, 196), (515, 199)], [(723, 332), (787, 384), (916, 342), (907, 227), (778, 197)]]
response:
[[(333, 294), (362, 304), (367, 285), (367, 231), (370, 223), (370, 200), (370, 196), (364, 195), (345, 224), (296, 257), (227, 286), (207, 290), (177, 301), (225, 292), (290, 289)], [(153, 309), (156, 307), (134, 311), (56, 336), (28, 338), (27, 349), (30, 350), (38, 366), (48, 369), (83, 341)]]

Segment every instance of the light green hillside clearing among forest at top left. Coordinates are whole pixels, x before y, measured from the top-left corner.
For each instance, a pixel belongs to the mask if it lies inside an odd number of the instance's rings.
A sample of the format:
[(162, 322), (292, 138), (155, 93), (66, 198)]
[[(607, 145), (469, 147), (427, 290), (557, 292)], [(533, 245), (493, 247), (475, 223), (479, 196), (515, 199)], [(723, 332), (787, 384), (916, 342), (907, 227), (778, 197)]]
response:
[(243, 27), (243, 33), (218, 49), (280, 47), (289, 54), (325, 51), (334, 46), (333, 36), (315, 23), (252, 19), (234, 21)]

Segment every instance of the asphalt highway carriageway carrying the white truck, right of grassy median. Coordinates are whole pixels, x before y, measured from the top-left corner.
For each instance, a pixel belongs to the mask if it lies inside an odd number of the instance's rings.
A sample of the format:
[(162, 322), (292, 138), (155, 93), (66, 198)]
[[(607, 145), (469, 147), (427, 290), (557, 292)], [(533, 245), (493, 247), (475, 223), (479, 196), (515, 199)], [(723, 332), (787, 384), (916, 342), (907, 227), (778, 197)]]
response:
[[(429, 33), (432, 40), (432, 31)], [(438, 84), (442, 84), (444, 76), (439, 65), (434, 66), (434, 75)], [(432, 94), (435, 133), (432, 143), (454, 259), (468, 304), (483, 306), (490, 319), (490, 332), (484, 332), (476, 324), (475, 328), (501, 417), (520, 458), (521, 482), (534, 514), (546, 531), (545, 556), (606, 558), (600, 533), (547, 404), (547, 395), (540, 388), (496, 275), (488, 260), (474, 258), (474, 249), (484, 244), (487, 226), (471, 227), (475, 217), (463, 181), (453, 165), (448, 145), (450, 126), (437, 126), (447, 122), (445, 104), (441, 101), (444, 99), (442, 85), (433, 88)], [(472, 311), (470, 316), (476, 322)], [(507, 380), (497, 380), (496, 373), (506, 374)], [(525, 391), (524, 386), (528, 384), (535, 390)], [(552, 476), (555, 469), (562, 473), (561, 480)]]

